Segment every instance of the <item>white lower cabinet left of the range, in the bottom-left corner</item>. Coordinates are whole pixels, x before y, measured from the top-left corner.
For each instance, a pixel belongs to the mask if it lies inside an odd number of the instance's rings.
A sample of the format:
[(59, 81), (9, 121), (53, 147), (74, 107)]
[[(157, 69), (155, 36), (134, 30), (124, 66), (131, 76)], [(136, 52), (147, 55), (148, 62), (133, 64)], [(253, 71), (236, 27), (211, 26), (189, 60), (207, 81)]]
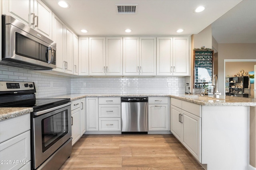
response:
[(30, 114), (0, 122), (0, 169), (30, 170)]

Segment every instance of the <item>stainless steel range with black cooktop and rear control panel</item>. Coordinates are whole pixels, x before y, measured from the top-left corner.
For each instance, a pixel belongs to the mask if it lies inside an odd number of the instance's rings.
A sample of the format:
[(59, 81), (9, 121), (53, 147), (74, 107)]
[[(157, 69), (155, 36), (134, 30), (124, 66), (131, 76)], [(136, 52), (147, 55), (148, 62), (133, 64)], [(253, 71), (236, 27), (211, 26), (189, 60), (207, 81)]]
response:
[(0, 107), (33, 107), (33, 170), (59, 169), (72, 150), (70, 99), (36, 99), (34, 82), (0, 81)]

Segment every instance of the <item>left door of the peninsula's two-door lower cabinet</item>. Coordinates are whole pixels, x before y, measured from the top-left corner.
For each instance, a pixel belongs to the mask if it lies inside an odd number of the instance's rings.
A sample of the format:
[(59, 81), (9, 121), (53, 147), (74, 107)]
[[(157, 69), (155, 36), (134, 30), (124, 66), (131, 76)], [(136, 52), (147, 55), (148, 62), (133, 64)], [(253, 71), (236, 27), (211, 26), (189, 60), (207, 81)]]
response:
[(171, 132), (180, 142), (182, 142), (182, 123), (180, 123), (181, 115), (182, 109), (171, 105)]

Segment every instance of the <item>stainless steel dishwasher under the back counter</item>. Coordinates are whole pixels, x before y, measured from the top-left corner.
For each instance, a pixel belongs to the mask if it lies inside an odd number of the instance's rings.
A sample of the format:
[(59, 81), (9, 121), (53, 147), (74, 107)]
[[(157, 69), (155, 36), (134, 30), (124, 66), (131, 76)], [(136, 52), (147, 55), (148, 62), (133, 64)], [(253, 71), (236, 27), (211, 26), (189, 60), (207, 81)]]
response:
[(121, 98), (122, 133), (148, 133), (148, 97)]

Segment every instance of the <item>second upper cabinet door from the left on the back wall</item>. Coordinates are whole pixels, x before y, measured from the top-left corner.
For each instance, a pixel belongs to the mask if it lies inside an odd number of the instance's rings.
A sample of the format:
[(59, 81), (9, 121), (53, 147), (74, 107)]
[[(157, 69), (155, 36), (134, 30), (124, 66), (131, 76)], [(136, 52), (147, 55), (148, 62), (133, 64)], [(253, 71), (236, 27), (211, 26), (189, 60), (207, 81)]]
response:
[(89, 75), (106, 75), (106, 38), (89, 38)]

